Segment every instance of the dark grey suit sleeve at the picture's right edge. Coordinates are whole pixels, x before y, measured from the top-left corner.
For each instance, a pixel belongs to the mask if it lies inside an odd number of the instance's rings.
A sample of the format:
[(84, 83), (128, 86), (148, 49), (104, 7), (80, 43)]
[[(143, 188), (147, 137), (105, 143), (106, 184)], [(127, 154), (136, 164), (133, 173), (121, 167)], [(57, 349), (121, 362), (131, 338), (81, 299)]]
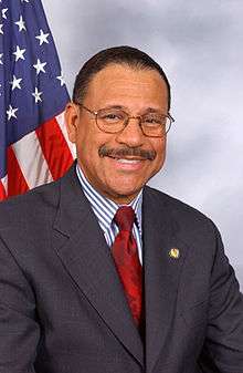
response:
[(207, 339), (202, 352), (205, 373), (243, 372), (243, 296), (213, 226), (216, 251), (211, 272)]

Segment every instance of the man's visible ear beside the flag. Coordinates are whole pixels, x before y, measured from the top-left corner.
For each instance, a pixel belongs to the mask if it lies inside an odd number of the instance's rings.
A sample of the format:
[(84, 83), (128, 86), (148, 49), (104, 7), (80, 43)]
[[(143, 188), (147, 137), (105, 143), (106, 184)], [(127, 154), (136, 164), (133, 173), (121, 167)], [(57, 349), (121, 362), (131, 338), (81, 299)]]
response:
[(80, 107), (68, 102), (65, 108), (65, 124), (71, 143), (76, 143), (77, 126), (80, 122)]

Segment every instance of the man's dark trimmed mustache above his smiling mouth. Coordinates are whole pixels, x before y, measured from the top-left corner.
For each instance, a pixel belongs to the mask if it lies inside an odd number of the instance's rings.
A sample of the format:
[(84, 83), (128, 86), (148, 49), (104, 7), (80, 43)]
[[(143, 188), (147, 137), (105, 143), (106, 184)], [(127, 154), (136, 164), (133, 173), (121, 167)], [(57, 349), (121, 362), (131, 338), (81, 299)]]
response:
[(142, 159), (154, 160), (156, 157), (155, 151), (145, 151), (139, 147), (123, 147), (123, 148), (109, 148), (106, 145), (103, 145), (98, 149), (99, 157), (113, 157), (113, 158), (123, 158), (126, 156), (140, 157)]

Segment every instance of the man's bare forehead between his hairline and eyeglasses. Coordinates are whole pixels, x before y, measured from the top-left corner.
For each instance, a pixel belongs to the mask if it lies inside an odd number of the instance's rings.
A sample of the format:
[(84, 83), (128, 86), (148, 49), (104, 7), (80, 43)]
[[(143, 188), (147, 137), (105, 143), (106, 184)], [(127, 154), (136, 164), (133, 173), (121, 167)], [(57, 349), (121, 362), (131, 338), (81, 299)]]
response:
[(168, 89), (157, 70), (110, 63), (91, 80), (85, 95), (91, 107), (123, 104), (130, 110), (168, 106)]

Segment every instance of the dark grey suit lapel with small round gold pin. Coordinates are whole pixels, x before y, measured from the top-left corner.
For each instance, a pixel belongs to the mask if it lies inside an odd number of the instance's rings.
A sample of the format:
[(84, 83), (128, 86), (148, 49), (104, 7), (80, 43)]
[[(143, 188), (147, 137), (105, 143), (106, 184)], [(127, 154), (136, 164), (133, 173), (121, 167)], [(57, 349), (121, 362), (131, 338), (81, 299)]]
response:
[(173, 322), (187, 249), (176, 235), (171, 211), (161, 197), (146, 188), (142, 206), (146, 372), (150, 373), (162, 349), (168, 350), (167, 336)]

